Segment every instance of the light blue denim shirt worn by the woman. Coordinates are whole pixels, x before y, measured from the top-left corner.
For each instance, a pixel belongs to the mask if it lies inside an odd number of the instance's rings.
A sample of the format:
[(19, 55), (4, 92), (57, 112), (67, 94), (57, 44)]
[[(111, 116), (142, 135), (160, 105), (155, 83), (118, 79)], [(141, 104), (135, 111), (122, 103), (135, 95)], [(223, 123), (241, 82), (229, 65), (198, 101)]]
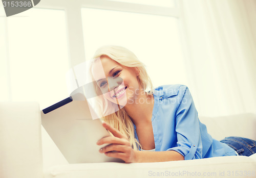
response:
[[(236, 156), (231, 147), (207, 133), (185, 85), (163, 85), (157, 87), (153, 95), (152, 126), (156, 151), (175, 150), (185, 160)], [(135, 138), (139, 141), (135, 124), (134, 127)]]

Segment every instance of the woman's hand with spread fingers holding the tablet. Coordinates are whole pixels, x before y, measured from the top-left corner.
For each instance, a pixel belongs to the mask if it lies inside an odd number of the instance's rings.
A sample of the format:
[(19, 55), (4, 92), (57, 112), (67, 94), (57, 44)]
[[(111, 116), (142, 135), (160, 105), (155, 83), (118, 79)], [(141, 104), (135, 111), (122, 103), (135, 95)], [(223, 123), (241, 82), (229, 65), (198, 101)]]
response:
[(105, 129), (110, 131), (114, 137), (108, 136), (98, 140), (97, 145), (110, 143), (110, 145), (102, 147), (99, 152), (104, 153), (108, 157), (120, 158), (125, 163), (136, 162), (136, 151), (132, 148), (128, 138), (108, 123), (103, 122), (102, 125)]

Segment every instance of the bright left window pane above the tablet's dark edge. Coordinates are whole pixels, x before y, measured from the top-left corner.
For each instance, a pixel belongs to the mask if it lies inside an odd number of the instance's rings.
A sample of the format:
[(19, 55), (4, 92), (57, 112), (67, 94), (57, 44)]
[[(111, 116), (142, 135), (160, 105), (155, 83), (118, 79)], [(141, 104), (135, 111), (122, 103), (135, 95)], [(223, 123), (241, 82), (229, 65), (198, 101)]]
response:
[(44, 109), (68, 97), (65, 11), (32, 8), (8, 17), (12, 101)]

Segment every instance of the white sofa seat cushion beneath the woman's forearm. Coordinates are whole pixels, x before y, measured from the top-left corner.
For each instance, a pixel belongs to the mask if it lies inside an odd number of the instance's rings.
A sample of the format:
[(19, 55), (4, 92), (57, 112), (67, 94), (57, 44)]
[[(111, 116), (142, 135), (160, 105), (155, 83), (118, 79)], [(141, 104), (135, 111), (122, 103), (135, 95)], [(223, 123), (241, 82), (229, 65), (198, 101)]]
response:
[[(86, 177), (255, 177), (256, 162), (230, 156), (158, 163), (84, 163), (54, 166), (45, 178)], [(250, 176), (254, 174), (254, 176)]]

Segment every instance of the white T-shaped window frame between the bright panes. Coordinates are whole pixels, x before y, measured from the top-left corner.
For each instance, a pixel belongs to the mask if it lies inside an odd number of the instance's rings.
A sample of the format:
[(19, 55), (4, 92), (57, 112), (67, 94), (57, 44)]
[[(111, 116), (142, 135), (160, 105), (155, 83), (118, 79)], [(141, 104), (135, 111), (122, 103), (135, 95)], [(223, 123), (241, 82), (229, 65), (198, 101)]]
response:
[[(70, 67), (80, 64), (86, 60), (84, 44), (81, 8), (95, 8), (103, 10), (113, 10), (122, 12), (134, 12), (151, 15), (180, 17), (177, 0), (174, 0), (176, 7), (166, 8), (159, 6), (141, 5), (126, 2), (106, 1), (106, 0), (44, 0), (36, 7), (47, 9), (62, 9), (66, 12), (67, 30), (68, 30), (68, 46)], [(180, 27), (179, 27), (180, 28)]]

